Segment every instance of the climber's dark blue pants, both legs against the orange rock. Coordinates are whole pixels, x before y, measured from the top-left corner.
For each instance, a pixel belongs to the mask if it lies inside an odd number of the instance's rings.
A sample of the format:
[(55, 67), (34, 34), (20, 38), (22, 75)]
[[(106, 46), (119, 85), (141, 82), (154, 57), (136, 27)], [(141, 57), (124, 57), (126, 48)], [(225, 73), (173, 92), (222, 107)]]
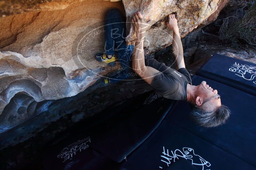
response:
[(131, 76), (131, 60), (133, 45), (125, 43), (126, 26), (124, 17), (118, 9), (108, 11), (105, 18), (105, 53), (108, 55), (117, 53), (121, 69), (117, 74), (109, 77), (111, 83), (127, 79)]

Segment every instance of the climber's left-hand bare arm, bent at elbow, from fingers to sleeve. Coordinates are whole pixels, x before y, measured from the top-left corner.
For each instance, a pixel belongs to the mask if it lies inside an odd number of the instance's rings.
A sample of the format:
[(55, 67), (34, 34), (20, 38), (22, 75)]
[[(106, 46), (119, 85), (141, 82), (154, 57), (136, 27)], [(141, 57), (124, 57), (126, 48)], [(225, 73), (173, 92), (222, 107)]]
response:
[(140, 12), (136, 12), (132, 18), (132, 24), (136, 32), (136, 41), (132, 54), (132, 69), (148, 84), (151, 84), (155, 75), (160, 73), (153, 67), (145, 66), (143, 43), (145, 32), (151, 26), (150, 22), (145, 22)]

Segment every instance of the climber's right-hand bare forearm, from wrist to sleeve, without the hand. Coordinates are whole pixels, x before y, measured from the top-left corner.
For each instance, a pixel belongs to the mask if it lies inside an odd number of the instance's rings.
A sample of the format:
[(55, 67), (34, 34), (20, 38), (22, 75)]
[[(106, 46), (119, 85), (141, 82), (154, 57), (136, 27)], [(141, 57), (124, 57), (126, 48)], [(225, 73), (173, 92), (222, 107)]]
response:
[(184, 57), (183, 57), (183, 46), (180, 39), (179, 29), (173, 30), (172, 35), (172, 53), (175, 57), (178, 69), (185, 68)]

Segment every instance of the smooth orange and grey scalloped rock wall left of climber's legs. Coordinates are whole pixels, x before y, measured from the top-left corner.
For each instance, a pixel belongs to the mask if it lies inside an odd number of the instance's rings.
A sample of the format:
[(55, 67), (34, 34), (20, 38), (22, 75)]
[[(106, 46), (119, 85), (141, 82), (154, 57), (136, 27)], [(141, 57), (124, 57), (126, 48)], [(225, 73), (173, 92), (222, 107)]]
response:
[[(64, 2), (67, 1), (62, 4)], [(85, 61), (83, 64), (75, 56), (84, 34), (103, 25), (102, 20), (111, 8), (124, 12), (122, 2), (72, 1), (64, 10), (25, 12), (0, 18), (0, 131), (19, 124), (32, 112), (40, 113), (40, 109), (31, 109), (18, 115), (21, 106), (30, 108), (36, 105), (33, 101), (75, 96), (101, 75), (112, 71), (94, 60), (94, 54), (104, 49), (103, 32), (93, 34), (92, 43), (84, 45), (87, 51), (81, 59)], [(7, 107), (17, 93), (23, 93), (31, 102)]]

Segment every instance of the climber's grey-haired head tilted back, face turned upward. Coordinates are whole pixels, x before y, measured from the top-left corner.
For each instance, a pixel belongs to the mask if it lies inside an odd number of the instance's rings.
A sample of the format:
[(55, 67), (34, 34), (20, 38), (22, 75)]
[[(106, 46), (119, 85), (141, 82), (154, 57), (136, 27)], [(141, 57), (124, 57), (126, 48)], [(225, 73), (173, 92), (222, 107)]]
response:
[(191, 100), (191, 116), (201, 126), (215, 127), (226, 122), (230, 115), (227, 106), (221, 105), (218, 91), (212, 89), (206, 81), (196, 86)]

